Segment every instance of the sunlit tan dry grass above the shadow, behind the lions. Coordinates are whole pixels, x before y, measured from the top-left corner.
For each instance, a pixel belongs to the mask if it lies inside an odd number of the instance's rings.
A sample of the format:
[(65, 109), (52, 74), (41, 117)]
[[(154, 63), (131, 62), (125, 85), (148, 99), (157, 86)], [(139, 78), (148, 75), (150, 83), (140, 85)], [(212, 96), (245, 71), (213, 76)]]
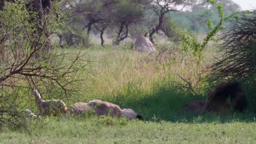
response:
[(127, 83), (143, 92), (152, 92), (156, 83), (184, 83), (187, 80), (194, 86), (199, 74), (215, 55), (214, 50), (207, 52), (205, 61), (197, 64), (193, 57), (174, 49), (139, 53), (118, 48), (90, 51), (92, 59), (96, 61), (96, 76), (89, 86), (99, 90), (97, 95), (121, 93)]

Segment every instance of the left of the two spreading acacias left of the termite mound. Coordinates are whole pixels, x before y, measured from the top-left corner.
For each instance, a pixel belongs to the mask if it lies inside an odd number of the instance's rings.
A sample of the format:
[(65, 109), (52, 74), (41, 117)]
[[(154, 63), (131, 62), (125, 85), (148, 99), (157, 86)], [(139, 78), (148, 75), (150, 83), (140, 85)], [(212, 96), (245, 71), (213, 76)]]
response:
[(109, 26), (109, 17), (115, 4), (117, 4), (117, 1), (114, 0), (78, 1), (71, 5), (72, 14), (68, 21), (82, 27), (82, 31), (87, 29), (87, 37), (89, 37), (93, 28), (96, 29), (101, 33), (101, 45), (103, 45), (103, 34)]

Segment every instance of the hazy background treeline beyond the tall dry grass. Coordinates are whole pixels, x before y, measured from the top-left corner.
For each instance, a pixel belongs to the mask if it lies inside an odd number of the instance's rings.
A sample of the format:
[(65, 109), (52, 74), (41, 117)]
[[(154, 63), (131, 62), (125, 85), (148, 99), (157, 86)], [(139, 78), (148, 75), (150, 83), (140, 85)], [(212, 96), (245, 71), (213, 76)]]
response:
[[(231, 0), (218, 2), (222, 2), (225, 15), (240, 8)], [(66, 21), (70, 29), (61, 31), (59, 38), (61, 45), (68, 46), (80, 41), (88, 45), (91, 33), (98, 34), (101, 45), (106, 37), (112, 39), (114, 45), (119, 45), (120, 41), (136, 39), (139, 35), (148, 36), (154, 42), (155, 34), (177, 41), (183, 33), (180, 29), (206, 33), (209, 30), (206, 20), (210, 18), (213, 24), (219, 20), (218, 10), (207, 1), (80, 0), (63, 8), (70, 13)], [(230, 23), (226, 22), (224, 26), (228, 28)]]

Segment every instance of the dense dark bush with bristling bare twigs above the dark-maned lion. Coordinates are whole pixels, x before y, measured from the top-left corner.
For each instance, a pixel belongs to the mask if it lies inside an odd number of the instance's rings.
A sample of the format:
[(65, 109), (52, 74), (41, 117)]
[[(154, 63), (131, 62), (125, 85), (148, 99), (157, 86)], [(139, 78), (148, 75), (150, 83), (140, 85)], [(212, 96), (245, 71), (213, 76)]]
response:
[(238, 16), (230, 20), (234, 27), (222, 37), (222, 55), (210, 67), (211, 81), (246, 79), (256, 74), (256, 13)]

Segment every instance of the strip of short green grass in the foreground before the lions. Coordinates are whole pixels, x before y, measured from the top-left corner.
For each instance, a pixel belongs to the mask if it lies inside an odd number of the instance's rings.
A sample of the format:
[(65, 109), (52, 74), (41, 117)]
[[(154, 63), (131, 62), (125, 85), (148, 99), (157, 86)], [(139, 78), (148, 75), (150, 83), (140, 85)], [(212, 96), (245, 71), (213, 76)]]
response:
[(18, 130), (2, 128), (0, 139), (0, 143), (255, 143), (256, 123), (43, 118), (30, 119)]

